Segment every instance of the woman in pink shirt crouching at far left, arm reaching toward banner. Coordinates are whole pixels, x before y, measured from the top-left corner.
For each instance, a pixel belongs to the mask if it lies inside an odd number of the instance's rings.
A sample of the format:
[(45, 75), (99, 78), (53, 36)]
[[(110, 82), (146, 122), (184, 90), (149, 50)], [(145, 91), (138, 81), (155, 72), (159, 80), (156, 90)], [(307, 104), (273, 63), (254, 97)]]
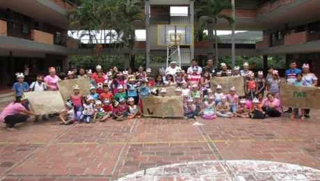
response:
[[(8, 131), (16, 131), (15, 124), (24, 123), (29, 118), (29, 115), (39, 117), (40, 114), (33, 113), (23, 106), (28, 102), (27, 97), (22, 95), (21, 98), (15, 100), (15, 102), (10, 103), (3, 111), (0, 113), (0, 122), (6, 123)], [(26, 114), (21, 114), (26, 113)]]

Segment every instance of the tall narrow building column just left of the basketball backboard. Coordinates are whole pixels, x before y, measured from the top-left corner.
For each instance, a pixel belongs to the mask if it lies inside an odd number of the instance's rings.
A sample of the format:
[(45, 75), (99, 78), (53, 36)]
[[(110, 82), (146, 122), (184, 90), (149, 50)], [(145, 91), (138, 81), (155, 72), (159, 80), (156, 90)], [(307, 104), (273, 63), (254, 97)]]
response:
[(147, 68), (150, 68), (150, 27), (149, 27), (149, 14), (150, 14), (150, 8), (149, 8), (149, 0), (145, 0), (145, 61)]

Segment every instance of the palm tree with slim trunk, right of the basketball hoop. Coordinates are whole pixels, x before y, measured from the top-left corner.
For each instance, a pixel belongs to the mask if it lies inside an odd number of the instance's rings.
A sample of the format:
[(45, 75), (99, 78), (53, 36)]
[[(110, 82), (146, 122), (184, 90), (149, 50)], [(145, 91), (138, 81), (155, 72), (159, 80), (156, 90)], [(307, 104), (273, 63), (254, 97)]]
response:
[[(204, 29), (204, 26), (208, 24), (208, 40), (209, 49), (213, 50), (213, 44), (215, 42), (216, 47), (216, 68), (218, 67), (218, 38), (216, 34), (217, 24), (219, 19), (226, 19), (230, 26), (234, 24), (234, 18), (230, 15), (221, 14), (223, 10), (231, 10), (232, 4), (229, 0), (200, 0), (199, 10), (195, 13), (199, 20), (200, 29)], [(214, 36), (215, 41), (214, 41)], [(213, 42), (214, 41), (214, 42)], [(211, 57), (209, 57), (211, 58)]]

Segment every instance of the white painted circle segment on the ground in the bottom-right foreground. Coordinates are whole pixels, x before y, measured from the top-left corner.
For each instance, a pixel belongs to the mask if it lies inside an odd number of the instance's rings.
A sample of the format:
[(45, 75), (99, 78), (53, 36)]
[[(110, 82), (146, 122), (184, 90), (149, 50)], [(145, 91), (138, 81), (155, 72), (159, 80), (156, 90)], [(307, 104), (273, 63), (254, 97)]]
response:
[(320, 180), (320, 170), (268, 161), (204, 161), (148, 168), (119, 179), (131, 180)]

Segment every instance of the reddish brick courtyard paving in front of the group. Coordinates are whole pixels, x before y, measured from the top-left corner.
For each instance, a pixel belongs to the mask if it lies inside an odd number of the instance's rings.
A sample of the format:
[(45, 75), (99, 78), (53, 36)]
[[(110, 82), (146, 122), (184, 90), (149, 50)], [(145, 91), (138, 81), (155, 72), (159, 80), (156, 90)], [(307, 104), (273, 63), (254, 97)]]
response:
[[(0, 109), (5, 104), (1, 103)], [(197, 178), (198, 167), (177, 168), (175, 164), (219, 161), (216, 163), (223, 169), (224, 163), (232, 169), (237, 167), (230, 160), (281, 162), (319, 169), (320, 113), (311, 111), (311, 116), (304, 122), (290, 120), (289, 115), (266, 120), (198, 118), (202, 126), (194, 126), (196, 120), (158, 118), (61, 126), (51, 119), (47, 123), (19, 124), (18, 132), (7, 132), (1, 124), (0, 180), (118, 180), (172, 164), (165, 170), (168, 177), (159, 180), (178, 180), (170, 175), (185, 172), (194, 173), (194, 180), (206, 180), (205, 175)], [(257, 172), (252, 175), (245, 180), (269, 180), (257, 177)], [(296, 179), (293, 175), (288, 177)], [(224, 178), (221, 175), (221, 180)], [(314, 175), (305, 180), (308, 179), (320, 177), (314, 170)]]

